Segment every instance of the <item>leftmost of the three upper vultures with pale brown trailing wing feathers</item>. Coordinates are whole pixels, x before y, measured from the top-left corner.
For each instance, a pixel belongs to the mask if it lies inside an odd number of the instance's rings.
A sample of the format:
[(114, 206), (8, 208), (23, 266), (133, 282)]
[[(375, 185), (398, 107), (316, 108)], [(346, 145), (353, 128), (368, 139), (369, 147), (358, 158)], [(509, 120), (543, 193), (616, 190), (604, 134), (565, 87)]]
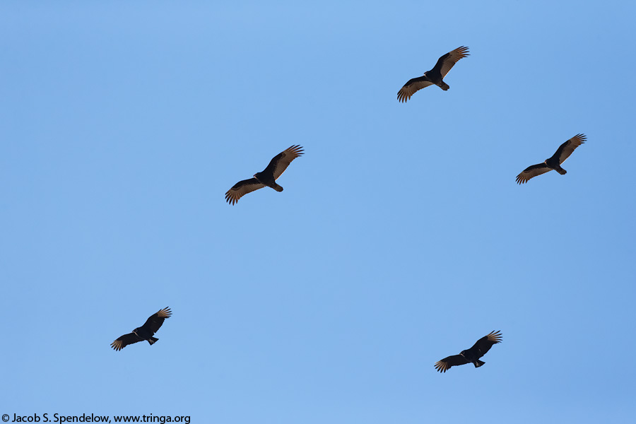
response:
[(225, 201), (233, 205), (238, 199), (245, 196), (245, 194), (262, 189), (263, 187), (271, 187), (276, 190), (276, 192), (282, 192), (283, 187), (276, 184), (276, 179), (285, 172), (291, 161), (300, 155), (302, 155), (301, 146), (286, 148), (273, 157), (263, 172), (257, 172), (254, 174), (254, 178), (244, 179), (234, 184), (234, 186), (225, 193)]

